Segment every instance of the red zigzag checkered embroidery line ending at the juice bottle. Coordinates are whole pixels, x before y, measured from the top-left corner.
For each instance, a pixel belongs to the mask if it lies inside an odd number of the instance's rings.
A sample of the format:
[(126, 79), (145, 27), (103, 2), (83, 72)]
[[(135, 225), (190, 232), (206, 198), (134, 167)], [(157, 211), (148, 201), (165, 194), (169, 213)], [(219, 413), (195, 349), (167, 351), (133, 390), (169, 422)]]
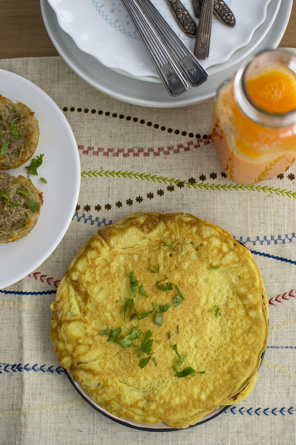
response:
[(173, 145), (171, 146), (167, 146), (165, 147), (158, 147), (157, 149), (154, 148), (148, 148), (143, 149), (143, 148), (128, 148), (127, 151), (125, 151), (124, 148), (118, 148), (117, 150), (114, 150), (114, 148), (108, 148), (107, 150), (105, 150), (102, 147), (98, 147), (97, 150), (95, 150), (95, 147), (91, 147), (88, 146), (87, 149), (84, 149), (84, 145), (79, 145), (78, 146), (78, 150), (82, 150), (83, 154), (91, 154), (93, 156), (99, 156), (99, 153), (103, 154), (103, 156), (116, 156), (118, 157), (119, 154), (122, 154), (122, 156), (124, 158), (129, 158), (130, 155), (134, 156), (134, 157), (139, 157), (140, 153), (143, 156), (150, 156), (150, 154), (154, 155), (154, 156), (160, 156), (160, 154), (164, 154), (165, 156), (167, 156), (168, 154), (177, 154), (180, 153), (180, 150), (184, 150), (184, 151), (190, 151), (193, 148), (200, 148), (200, 143), (203, 142), (204, 145), (208, 145), (211, 142), (211, 136), (210, 134), (207, 135), (207, 139), (203, 139), (203, 138), (199, 138), (197, 139), (197, 142), (194, 143), (193, 141), (189, 141), (187, 142), (187, 145), (184, 144), (178, 144), (177, 148), (175, 148)]

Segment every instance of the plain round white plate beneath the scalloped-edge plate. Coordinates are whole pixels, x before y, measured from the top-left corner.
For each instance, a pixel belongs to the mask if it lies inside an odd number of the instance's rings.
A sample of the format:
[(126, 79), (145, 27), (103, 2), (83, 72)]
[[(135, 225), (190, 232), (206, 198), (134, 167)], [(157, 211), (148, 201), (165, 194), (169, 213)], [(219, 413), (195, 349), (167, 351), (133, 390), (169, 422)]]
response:
[[(250, 54), (254, 54), (262, 49), (277, 47), (287, 27), (292, 8), (292, 0), (281, 0), (280, 8), (272, 27), (262, 40), (260, 40), (262, 32), (260, 28), (264, 24), (257, 28), (251, 42), (244, 50), (240, 49), (230, 57), (229, 61), (227, 61), (227, 64), (232, 64), (230, 67), (223, 69), (221, 73), (210, 75), (209, 79), (198, 88), (189, 87), (184, 94), (178, 97), (170, 97), (162, 84), (151, 85), (150, 82), (122, 76), (81, 51), (71, 37), (59, 27), (55, 13), (47, 3), (47, 0), (40, 0), (40, 4), (43, 21), (52, 43), (63, 60), (78, 76), (94, 88), (111, 97), (135, 105), (156, 108), (193, 105), (213, 97), (217, 86), (237, 71), (240, 61), (245, 58), (245, 52), (248, 53), (249, 51), (249, 46), (252, 48)], [(277, 0), (272, 0), (268, 5), (268, 11), (271, 9), (273, 12), (277, 4)], [(259, 41), (258, 45), (257, 41)], [(237, 53), (239, 53), (239, 56)]]

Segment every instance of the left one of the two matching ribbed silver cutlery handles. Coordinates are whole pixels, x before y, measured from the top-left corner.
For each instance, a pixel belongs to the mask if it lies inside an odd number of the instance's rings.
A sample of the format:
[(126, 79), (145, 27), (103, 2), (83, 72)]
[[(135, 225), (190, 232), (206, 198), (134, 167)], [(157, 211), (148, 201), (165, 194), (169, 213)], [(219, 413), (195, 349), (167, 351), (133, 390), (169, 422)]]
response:
[(170, 96), (176, 97), (184, 93), (188, 89), (187, 82), (139, 5), (132, 0), (122, 0), (122, 4)]

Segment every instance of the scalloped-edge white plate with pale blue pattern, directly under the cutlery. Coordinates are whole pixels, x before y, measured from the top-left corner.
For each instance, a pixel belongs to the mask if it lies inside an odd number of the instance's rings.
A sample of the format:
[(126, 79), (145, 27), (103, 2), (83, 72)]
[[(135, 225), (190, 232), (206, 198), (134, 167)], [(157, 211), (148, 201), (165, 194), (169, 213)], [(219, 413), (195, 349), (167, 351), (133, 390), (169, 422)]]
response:
[[(48, 2), (55, 10), (59, 26), (73, 38), (79, 49), (108, 68), (119, 69), (130, 76), (159, 77), (121, 0)], [(166, 0), (152, 2), (184, 44), (193, 51), (195, 39), (186, 36), (178, 26)], [(209, 57), (201, 60), (201, 65), (208, 68), (221, 64), (237, 49), (248, 44), (254, 31), (264, 22), (269, 2), (270, 0), (227, 0), (226, 3), (236, 17), (237, 26), (225, 26), (213, 16)], [(191, 0), (182, 0), (182, 3), (194, 17)], [(198, 23), (197, 19), (196, 21)]]

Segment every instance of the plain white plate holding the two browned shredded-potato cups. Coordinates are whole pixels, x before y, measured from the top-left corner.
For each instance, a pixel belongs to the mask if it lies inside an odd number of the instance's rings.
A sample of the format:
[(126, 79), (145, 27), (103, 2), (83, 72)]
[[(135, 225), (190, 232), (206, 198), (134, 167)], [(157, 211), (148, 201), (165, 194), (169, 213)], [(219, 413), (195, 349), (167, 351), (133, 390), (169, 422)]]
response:
[[(71, 127), (58, 105), (32, 82), (0, 69), (0, 94), (28, 105), (39, 123), (39, 142), (33, 158), (44, 153), (38, 176), (30, 179), (43, 192), (43, 206), (36, 226), (14, 243), (0, 244), (0, 289), (34, 271), (54, 251), (71, 223), (78, 201), (80, 161)], [(25, 166), (5, 170), (27, 176)], [(47, 184), (40, 180), (43, 177)]]

